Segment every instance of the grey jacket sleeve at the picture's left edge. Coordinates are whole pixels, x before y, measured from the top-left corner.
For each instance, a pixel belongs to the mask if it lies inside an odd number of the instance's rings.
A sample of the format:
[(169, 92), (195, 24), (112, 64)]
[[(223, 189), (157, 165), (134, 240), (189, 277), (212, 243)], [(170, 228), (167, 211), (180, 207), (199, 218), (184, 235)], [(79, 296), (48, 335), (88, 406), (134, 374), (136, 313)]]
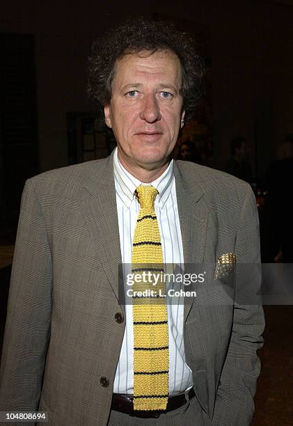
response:
[(38, 411), (49, 342), (51, 294), (52, 259), (44, 216), (33, 184), (27, 180), (10, 279), (0, 411)]

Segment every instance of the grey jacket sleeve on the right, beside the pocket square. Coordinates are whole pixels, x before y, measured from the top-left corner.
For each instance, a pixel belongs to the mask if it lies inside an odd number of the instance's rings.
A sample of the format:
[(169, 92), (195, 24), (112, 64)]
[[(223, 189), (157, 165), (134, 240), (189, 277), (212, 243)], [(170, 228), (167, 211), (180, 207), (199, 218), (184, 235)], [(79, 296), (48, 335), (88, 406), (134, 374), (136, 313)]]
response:
[(212, 424), (248, 426), (260, 374), (256, 351), (263, 345), (264, 313), (258, 294), (261, 285), (258, 210), (251, 187), (241, 210), (235, 255), (235, 303), (232, 335), (221, 372)]

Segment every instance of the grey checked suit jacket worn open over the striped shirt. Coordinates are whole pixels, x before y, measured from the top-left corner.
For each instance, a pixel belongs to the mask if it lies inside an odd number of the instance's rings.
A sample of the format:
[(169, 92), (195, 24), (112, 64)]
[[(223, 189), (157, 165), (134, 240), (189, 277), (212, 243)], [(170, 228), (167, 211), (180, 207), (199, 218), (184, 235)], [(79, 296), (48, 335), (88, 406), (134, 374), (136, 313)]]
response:
[[(175, 163), (175, 180), (184, 261), (207, 269), (198, 297), (184, 301), (196, 397), (205, 424), (249, 425), (264, 317), (261, 306), (240, 306), (235, 297), (247, 285), (256, 292), (260, 274), (227, 283), (209, 271), (227, 252), (239, 265), (260, 262), (255, 198), (245, 182), (184, 161)], [(113, 154), (26, 181), (0, 411), (49, 411), (49, 425), (106, 425), (125, 330), (125, 322), (115, 320), (124, 311), (120, 262)]]

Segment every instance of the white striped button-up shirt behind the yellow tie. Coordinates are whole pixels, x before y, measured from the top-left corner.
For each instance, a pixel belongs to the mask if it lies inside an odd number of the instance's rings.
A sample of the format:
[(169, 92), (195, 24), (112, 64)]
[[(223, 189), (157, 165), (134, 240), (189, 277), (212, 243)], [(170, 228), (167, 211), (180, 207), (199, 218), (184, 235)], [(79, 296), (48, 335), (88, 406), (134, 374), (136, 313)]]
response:
[[(128, 173), (120, 164), (117, 148), (114, 152), (114, 178), (118, 210), (118, 224), (122, 265), (132, 262), (132, 243), (136, 219), (140, 210), (134, 191), (142, 184)], [(164, 263), (183, 265), (183, 247), (180, 222), (177, 209), (175, 176), (173, 160), (164, 173), (159, 176), (152, 186), (159, 195), (155, 199)], [(193, 385), (192, 372), (185, 361), (183, 340), (183, 309), (182, 300), (179, 303), (167, 304), (168, 338), (169, 338), (169, 395), (182, 393)], [(134, 336), (132, 305), (125, 304), (126, 324), (120, 358), (114, 381), (114, 393), (134, 393)]]

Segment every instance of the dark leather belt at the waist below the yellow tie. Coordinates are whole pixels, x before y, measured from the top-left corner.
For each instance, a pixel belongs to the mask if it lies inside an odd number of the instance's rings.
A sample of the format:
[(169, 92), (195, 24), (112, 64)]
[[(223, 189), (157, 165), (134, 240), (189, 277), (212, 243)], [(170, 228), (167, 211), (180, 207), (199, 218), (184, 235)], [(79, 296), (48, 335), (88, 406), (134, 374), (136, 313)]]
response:
[[(196, 394), (194, 389), (189, 390), (188, 396), (191, 400)], [(113, 393), (111, 409), (120, 411), (120, 413), (129, 414), (129, 416), (141, 417), (141, 418), (158, 418), (161, 414), (167, 413), (168, 411), (176, 410), (182, 407), (187, 402), (185, 393), (180, 395), (174, 395), (168, 398), (166, 410), (135, 410), (133, 406), (133, 396), (125, 395), (122, 393)]]

